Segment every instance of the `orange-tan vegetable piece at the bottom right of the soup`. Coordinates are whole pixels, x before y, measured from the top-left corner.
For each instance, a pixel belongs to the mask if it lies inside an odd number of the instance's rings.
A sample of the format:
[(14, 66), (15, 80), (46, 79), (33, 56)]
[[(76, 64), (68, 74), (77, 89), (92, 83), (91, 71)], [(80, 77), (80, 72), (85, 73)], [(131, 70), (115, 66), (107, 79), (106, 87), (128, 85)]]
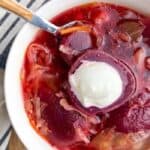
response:
[(148, 150), (150, 147), (150, 132), (124, 134), (113, 128), (101, 131), (91, 142), (96, 150)]

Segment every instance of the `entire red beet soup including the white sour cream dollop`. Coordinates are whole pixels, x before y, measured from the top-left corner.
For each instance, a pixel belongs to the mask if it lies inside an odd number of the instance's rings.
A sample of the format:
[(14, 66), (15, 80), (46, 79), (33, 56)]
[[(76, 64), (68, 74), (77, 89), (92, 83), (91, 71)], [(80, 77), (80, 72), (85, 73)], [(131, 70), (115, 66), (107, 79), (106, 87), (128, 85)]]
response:
[(57, 39), (40, 31), (27, 48), (21, 80), (32, 127), (58, 150), (148, 150), (150, 18), (92, 3), (51, 21), (72, 20), (90, 31)]

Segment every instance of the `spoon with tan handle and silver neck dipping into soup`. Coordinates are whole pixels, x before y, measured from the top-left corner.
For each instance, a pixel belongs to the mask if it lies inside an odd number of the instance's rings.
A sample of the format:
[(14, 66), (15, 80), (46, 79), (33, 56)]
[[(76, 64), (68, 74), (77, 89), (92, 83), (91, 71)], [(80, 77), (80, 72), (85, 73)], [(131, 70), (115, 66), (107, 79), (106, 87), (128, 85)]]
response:
[(25, 8), (24, 6), (22, 6), (21, 4), (19, 4), (14, 0), (0, 0), (0, 7), (3, 7), (17, 14), (18, 16), (24, 18), (31, 24), (38, 26), (54, 35), (56, 35), (56, 33), (59, 33), (62, 29), (69, 28), (75, 24), (81, 24), (80, 21), (72, 21), (63, 26), (56, 26), (47, 21), (46, 19), (36, 15), (31, 10)]

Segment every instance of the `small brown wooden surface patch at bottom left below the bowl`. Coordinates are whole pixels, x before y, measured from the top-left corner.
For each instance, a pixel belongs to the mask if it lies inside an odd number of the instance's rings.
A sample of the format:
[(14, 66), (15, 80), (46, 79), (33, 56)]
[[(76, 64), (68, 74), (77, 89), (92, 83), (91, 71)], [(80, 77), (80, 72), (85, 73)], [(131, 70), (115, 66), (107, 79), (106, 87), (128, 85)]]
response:
[(10, 137), (8, 150), (26, 150), (14, 131), (12, 131), (12, 135)]

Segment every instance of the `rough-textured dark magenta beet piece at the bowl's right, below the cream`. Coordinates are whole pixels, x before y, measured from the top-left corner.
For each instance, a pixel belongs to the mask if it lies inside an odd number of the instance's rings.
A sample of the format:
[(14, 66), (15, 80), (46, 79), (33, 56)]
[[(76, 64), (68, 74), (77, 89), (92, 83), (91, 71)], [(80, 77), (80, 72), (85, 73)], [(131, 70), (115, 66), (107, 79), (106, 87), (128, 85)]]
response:
[(110, 113), (109, 126), (119, 132), (138, 132), (150, 129), (150, 93), (143, 91), (133, 100)]

